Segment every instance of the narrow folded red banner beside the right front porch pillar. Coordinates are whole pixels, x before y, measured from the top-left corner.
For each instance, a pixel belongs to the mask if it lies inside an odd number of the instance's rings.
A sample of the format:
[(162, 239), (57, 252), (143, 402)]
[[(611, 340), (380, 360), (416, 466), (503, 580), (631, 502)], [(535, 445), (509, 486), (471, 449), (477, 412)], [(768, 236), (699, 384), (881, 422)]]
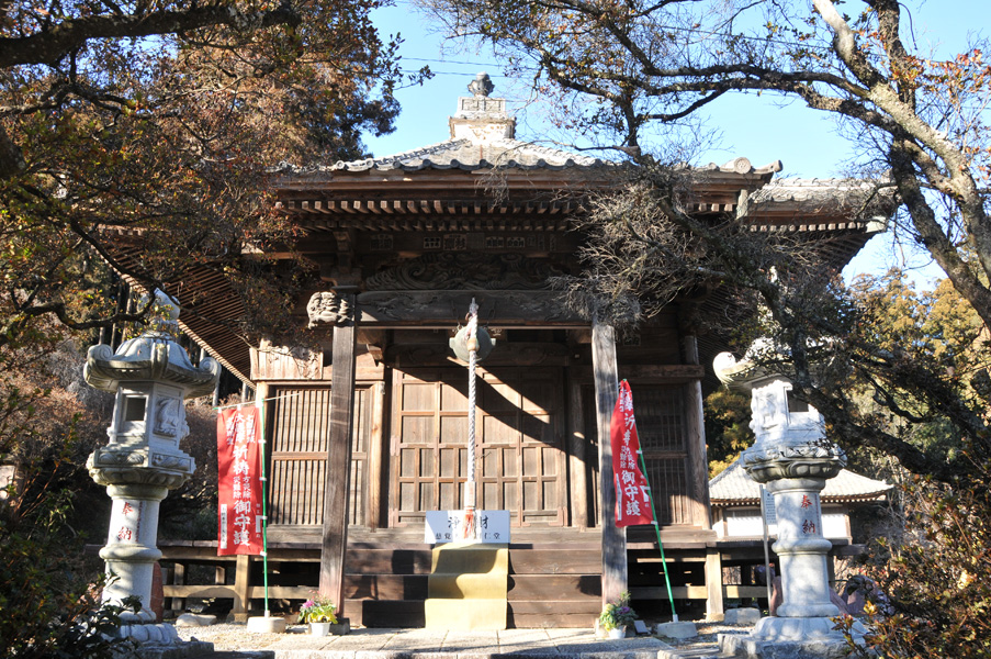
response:
[(616, 525), (653, 524), (650, 488), (640, 471), (640, 437), (633, 420), (633, 393), (626, 380), (619, 384), (619, 398), (609, 424), (609, 439), (616, 482)]

